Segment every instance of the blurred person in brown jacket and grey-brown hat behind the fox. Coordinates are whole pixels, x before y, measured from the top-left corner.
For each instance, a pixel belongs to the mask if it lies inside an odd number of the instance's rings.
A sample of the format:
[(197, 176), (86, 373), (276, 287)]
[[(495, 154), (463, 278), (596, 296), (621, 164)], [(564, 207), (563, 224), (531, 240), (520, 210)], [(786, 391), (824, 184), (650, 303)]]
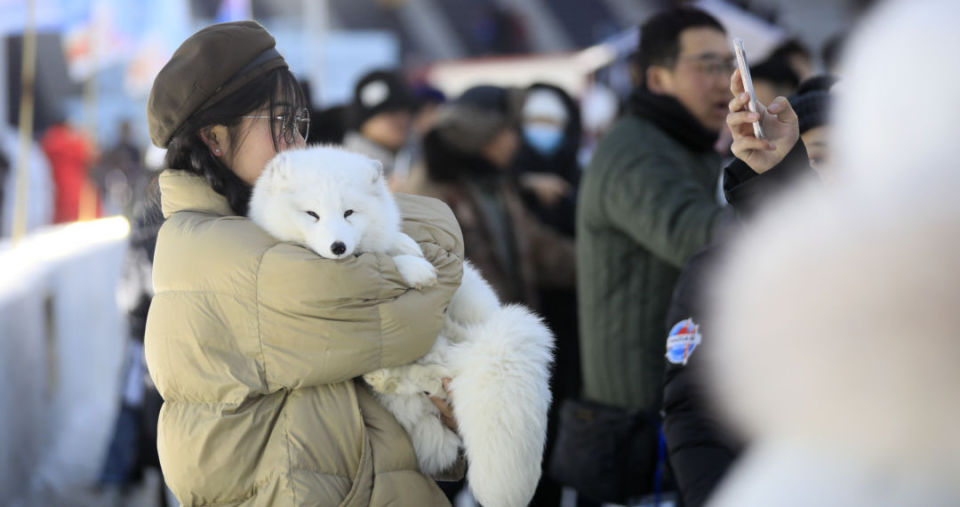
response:
[[(520, 90), (475, 86), (441, 106), (423, 143), (427, 178), (410, 190), (450, 205), (466, 258), (505, 303), (542, 311), (544, 290), (574, 286), (574, 246), (524, 208), (513, 183), (521, 98)], [(538, 487), (534, 504), (559, 501), (549, 483), (541, 478), (546, 486)], [(458, 491), (447, 488), (451, 498)]]

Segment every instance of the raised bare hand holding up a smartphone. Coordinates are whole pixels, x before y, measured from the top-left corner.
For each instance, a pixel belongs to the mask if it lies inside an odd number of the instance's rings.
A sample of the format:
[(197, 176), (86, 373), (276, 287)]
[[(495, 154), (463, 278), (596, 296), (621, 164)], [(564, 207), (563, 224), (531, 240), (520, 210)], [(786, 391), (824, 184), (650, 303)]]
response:
[[(756, 113), (747, 109), (750, 95), (743, 89), (740, 69), (733, 71), (730, 76), (730, 91), (733, 92), (730, 114), (727, 115), (727, 125), (733, 134), (730, 149), (757, 174), (763, 174), (779, 164), (797, 144), (800, 138), (797, 114), (784, 97), (773, 99), (770, 107), (757, 101)], [(753, 135), (752, 123), (757, 120), (763, 127), (764, 139), (757, 139)]]

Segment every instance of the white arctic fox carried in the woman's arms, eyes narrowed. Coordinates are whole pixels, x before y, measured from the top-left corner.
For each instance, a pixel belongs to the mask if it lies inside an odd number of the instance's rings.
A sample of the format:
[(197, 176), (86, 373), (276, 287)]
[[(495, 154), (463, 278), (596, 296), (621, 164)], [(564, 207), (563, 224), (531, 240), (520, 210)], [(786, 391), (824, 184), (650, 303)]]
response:
[[(362, 155), (331, 146), (277, 155), (253, 188), (250, 218), (323, 257), (387, 253), (411, 287), (436, 283), (434, 267), (400, 230), (380, 164)], [(424, 473), (446, 470), (463, 449), (477, 500), (487, 507), (526, 505), (540, 479), (552, 347), (553, 335), (536, 315), (501, 305), (464, 262), (463, 281), (430, 352), (364, 379), (407, 430)], [(459, 435), (440, 422), (424, 395), (445, 398), (442, 378), (452, 379)]]

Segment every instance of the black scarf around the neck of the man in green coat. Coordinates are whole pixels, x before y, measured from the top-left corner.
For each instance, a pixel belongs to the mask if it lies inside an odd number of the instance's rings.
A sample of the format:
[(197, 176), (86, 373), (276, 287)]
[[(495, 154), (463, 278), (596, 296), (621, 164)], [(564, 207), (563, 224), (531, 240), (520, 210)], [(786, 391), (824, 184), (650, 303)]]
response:
[(627, 101), (630, 114), (650, 120), (660, 130), (694, 151), (712, 150), (718, 132), (707, 129), (687, 111), (679, 100), (637, 89)]

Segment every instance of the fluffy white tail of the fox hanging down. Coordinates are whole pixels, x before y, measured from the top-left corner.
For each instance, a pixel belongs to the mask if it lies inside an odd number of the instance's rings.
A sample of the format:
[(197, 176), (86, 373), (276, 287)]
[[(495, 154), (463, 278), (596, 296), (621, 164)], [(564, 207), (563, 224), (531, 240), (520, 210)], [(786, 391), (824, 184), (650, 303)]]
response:
[(467, 481), (484, 506), (527, 505), (540, 480), (553, 334), (516, 305), (468, 332), (474, 336), (451, 351), (459, 374), (449, 387), (470, 462)]

